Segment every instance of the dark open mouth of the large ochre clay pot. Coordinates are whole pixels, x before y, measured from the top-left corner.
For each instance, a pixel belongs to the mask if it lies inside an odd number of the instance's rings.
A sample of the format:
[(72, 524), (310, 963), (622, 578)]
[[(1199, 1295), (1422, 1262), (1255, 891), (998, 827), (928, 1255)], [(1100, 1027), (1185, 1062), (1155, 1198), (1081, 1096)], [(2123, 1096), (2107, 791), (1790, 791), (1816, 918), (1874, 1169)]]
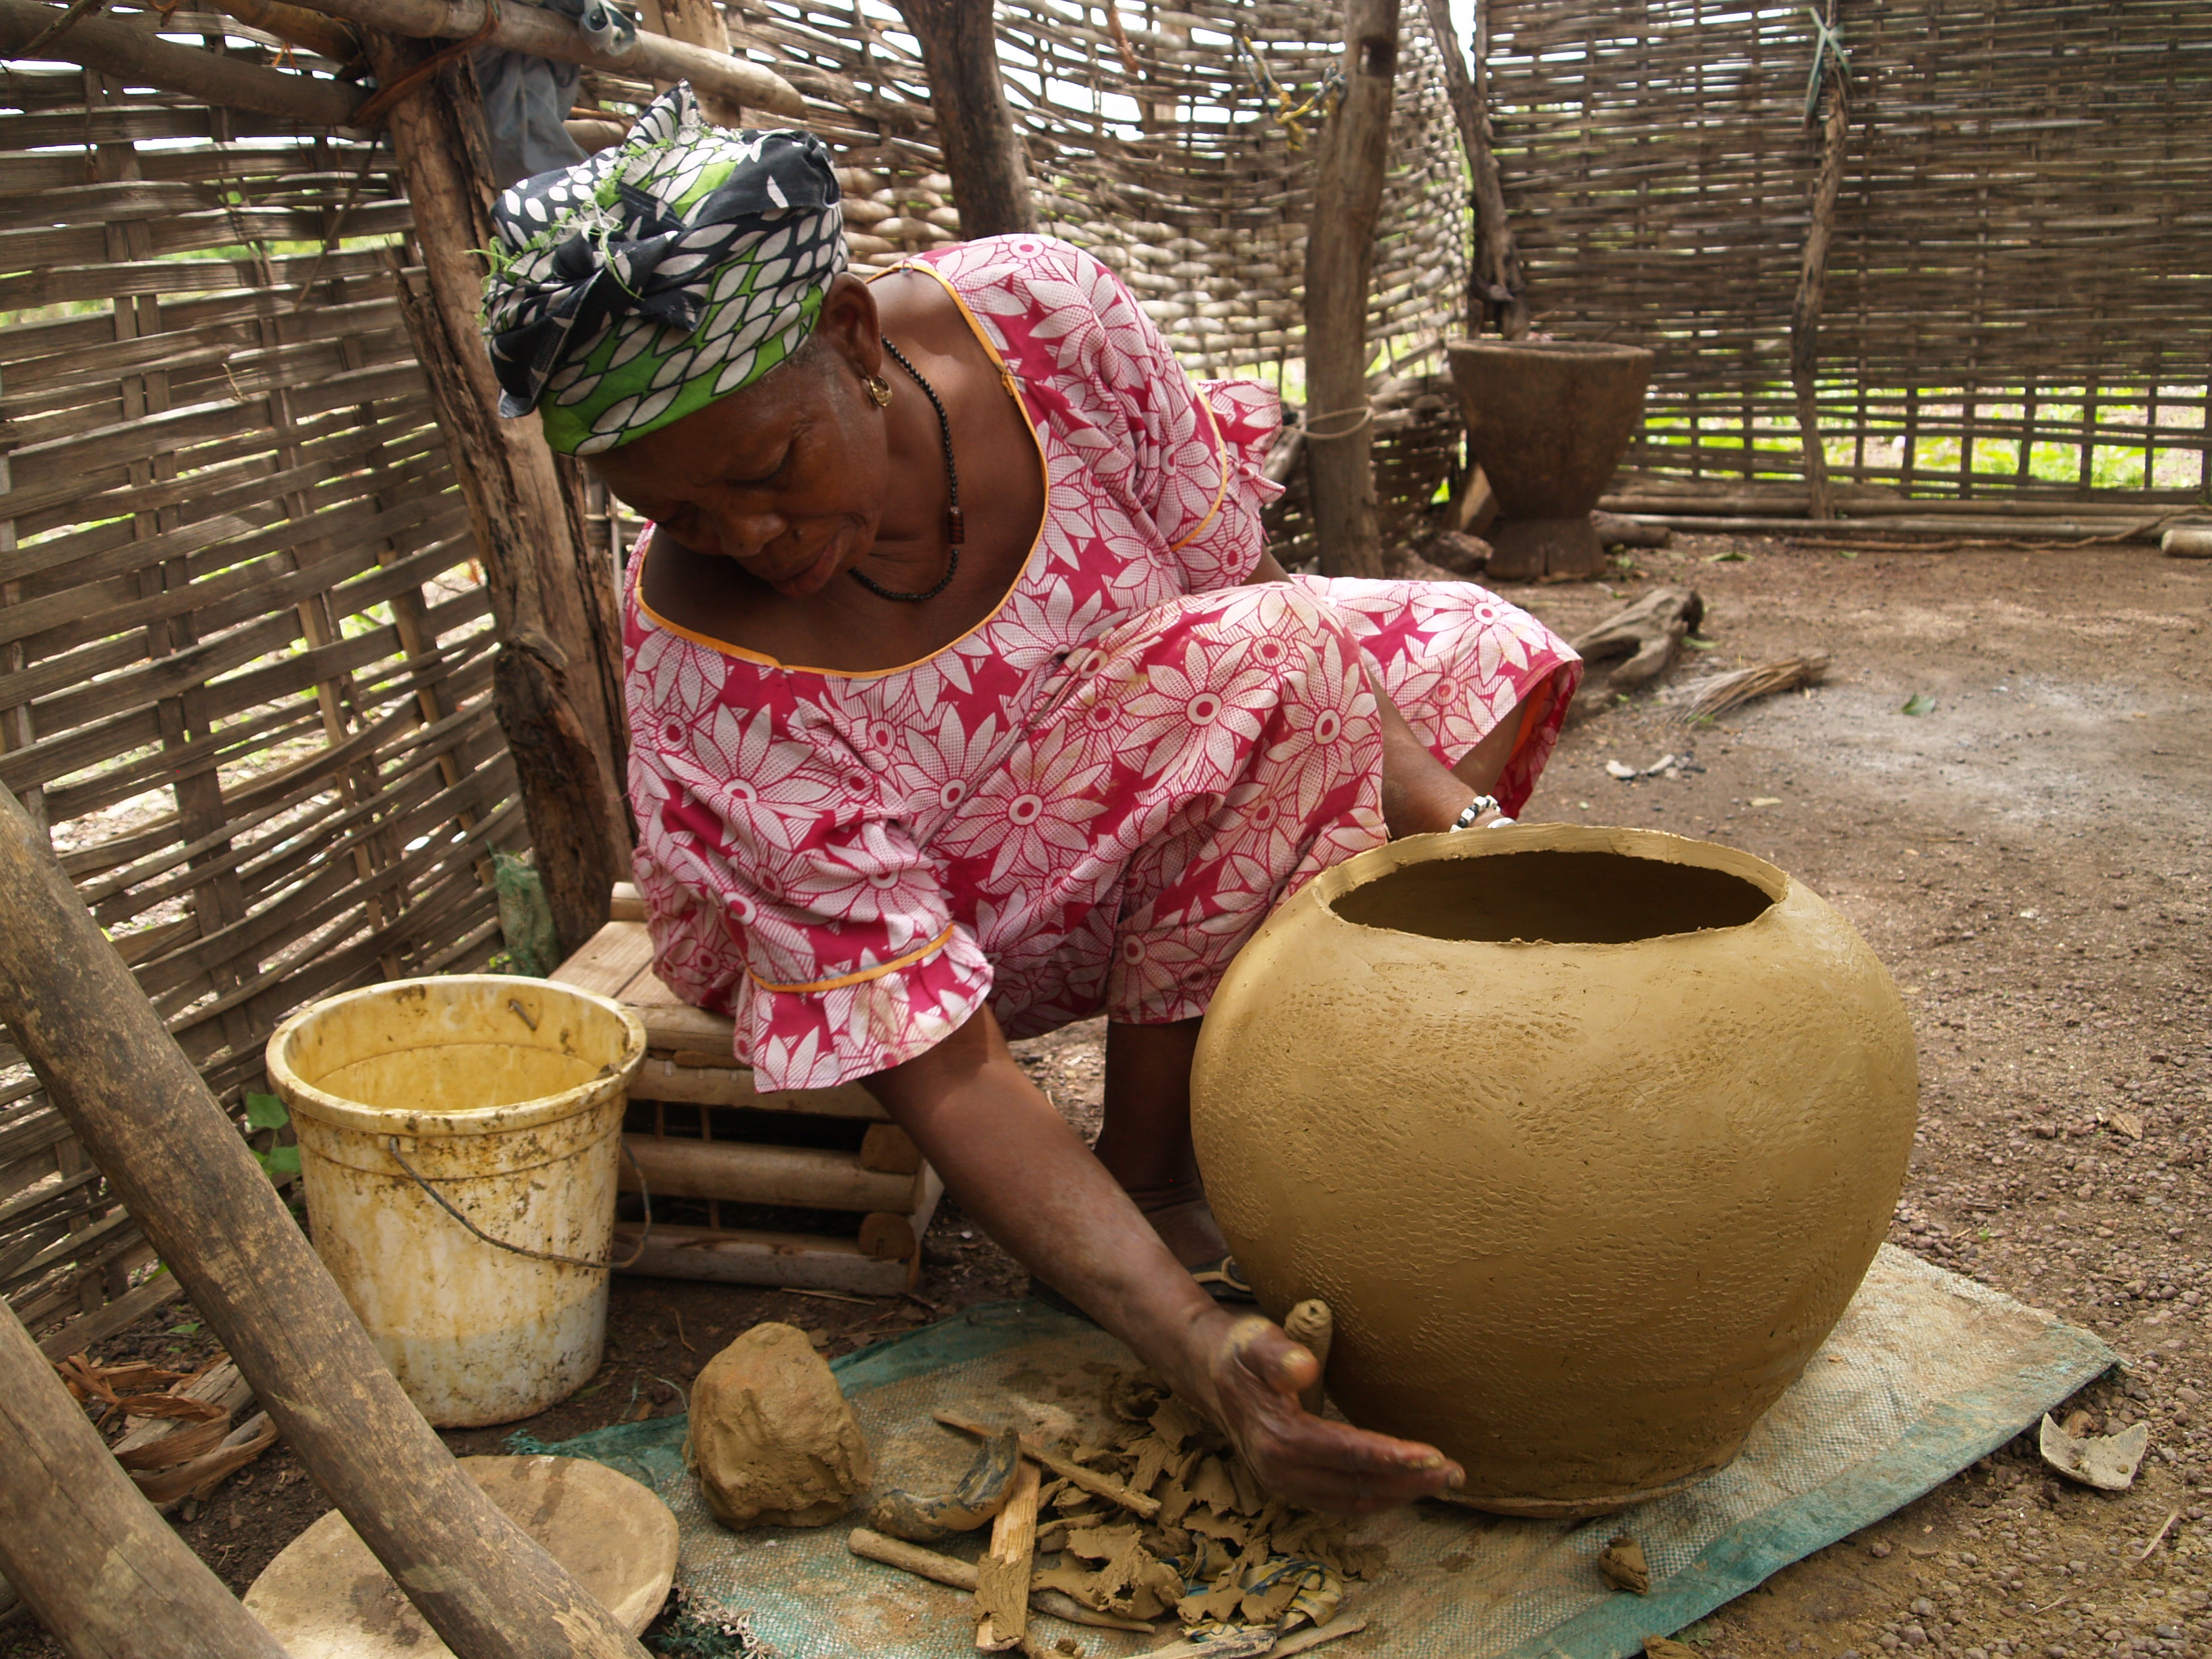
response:
[(1743, 927), (1781, 894), (1728, 869), (1621, 852), (1495, 852), (1400, 865), (1329, 900), (1358, 927), (1422, 938), (1632, 945)]

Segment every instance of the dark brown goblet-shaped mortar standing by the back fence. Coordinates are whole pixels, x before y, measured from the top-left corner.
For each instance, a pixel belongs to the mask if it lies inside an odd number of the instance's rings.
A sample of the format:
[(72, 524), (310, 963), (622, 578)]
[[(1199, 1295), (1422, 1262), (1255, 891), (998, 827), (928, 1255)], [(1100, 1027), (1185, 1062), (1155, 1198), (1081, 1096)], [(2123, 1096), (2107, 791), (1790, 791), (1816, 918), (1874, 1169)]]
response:
[(1498, 493), (1484, 575), (1597, 575), (1590, 509), (1644, 418), (1652, 354), (1588, 341), (1451, 341), (1467, 438)]

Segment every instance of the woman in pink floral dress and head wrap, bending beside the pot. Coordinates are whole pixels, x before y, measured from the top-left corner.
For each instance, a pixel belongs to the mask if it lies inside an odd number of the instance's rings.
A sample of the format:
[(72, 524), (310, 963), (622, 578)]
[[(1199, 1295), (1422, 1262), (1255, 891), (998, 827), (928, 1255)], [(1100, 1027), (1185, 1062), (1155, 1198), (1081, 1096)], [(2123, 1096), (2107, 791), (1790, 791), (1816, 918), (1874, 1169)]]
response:
[[(1467, 584), (1287, 577), (1270, 394), (1192, 387), (1066, 243), (856, 281), (807, 135), (719, 133), (677, 86), (495, 223), (502, 411), (655, 524), (624, 639), (659, 975), (734, 1015), (761, 1088), (865, 1084), (1274, 1491), (1455, 1482), (1305, 1416), (1314, 1358), (1199, 1283), (1234, 1292), (1190, 1055), (1303, 880), (1526, 799), (1573, 653)], [(1006, 1037), (1102, 1011), (1093, 1155)]]

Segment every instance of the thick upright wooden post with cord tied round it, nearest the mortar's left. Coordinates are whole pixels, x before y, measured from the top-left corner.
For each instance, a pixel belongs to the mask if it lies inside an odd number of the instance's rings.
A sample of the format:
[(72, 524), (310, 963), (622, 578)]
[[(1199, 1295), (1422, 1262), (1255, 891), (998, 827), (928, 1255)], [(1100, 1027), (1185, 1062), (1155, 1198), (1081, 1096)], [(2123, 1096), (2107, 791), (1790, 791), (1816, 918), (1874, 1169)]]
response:
[(1398, 73), (1398, 0), (1345, 0), (1345, 97), (1321, 135), (1305, 228), (1305, 476), (1323, 575), (1383, 575), (1367, 281)]

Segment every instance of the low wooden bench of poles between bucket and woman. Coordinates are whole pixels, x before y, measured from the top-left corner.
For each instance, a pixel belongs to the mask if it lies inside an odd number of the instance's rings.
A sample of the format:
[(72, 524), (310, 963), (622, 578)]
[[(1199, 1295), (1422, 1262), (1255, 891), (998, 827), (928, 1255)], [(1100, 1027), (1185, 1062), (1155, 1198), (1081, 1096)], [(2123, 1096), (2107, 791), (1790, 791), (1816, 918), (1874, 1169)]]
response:
[[(644, 1170), (655, 1221), (626, 1272), (869, 1296), (914, 1287), (945, 1192), (938, 1172), (858, 1084), (757, 1091), (752, 1071), (732, 1060), (732, 1024), (679, 1002), (653, 975), (635, 889), (615, 889), (615, 920), (553, 978), (622, 1002), (646, 1026), (624, 1146)], [(628, 1159), (622, 1192), (637, 1192)], [(805, 1214), (785, 1230), (743, 1225), (759, 1210)], [(617, 1261), (637, 1250), (639, 1232), (637, 1201), (626, 1197)]]

